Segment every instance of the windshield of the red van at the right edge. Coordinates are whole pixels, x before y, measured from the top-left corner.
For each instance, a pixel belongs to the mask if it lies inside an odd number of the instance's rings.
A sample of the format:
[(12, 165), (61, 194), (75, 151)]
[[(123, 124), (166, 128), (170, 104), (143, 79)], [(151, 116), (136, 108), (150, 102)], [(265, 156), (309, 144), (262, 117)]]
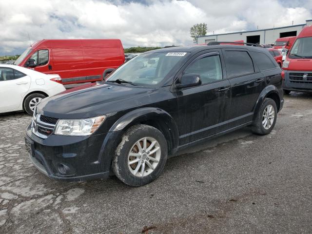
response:
[(296, 39), (289, 53), (289, 57), (312, 58), (312, 37)]

